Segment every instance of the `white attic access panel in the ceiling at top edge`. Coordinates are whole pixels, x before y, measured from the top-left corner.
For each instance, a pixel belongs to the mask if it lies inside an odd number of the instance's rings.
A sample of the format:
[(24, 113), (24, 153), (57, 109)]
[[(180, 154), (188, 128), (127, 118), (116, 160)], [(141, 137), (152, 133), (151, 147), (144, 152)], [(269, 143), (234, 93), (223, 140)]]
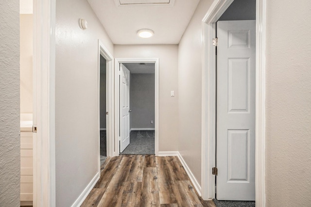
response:
[(115, 0), (117, 6), (127, 5), (167, 5), (173, 6), (175, 0)]

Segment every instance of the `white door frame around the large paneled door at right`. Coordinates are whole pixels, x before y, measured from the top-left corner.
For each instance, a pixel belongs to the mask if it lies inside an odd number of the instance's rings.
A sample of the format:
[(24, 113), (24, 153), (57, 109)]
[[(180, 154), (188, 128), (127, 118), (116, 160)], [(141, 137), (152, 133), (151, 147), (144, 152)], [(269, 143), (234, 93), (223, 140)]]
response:
[[(202, 157), (201, 188), (204, 200), (215, 198), (216, 59), (212, 38), (216, 22), (233, 0), (214, 0), (202, 20)], [(256, 1), (256, 206), (265, 206), (265, 28), (266, 0)]]

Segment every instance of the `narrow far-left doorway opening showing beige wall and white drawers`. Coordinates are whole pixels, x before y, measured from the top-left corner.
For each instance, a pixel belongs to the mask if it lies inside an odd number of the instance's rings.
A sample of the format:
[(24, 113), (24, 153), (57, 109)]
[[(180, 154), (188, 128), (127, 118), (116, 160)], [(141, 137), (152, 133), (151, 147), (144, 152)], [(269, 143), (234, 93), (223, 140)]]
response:
[(36, 205), (33, 2), (20, 1), (20, 206)]

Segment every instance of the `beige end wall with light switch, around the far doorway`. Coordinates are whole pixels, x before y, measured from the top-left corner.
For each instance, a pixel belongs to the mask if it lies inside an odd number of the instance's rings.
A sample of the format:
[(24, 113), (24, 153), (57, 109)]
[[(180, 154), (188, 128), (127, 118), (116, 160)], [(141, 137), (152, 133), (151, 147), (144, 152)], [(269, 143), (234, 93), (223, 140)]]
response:
[[(115, 58), (159, 58), (159, 151), (177, 151), (177, 45), (115, 45)], [(175, 91), (175, 97), (171, 97)]]

